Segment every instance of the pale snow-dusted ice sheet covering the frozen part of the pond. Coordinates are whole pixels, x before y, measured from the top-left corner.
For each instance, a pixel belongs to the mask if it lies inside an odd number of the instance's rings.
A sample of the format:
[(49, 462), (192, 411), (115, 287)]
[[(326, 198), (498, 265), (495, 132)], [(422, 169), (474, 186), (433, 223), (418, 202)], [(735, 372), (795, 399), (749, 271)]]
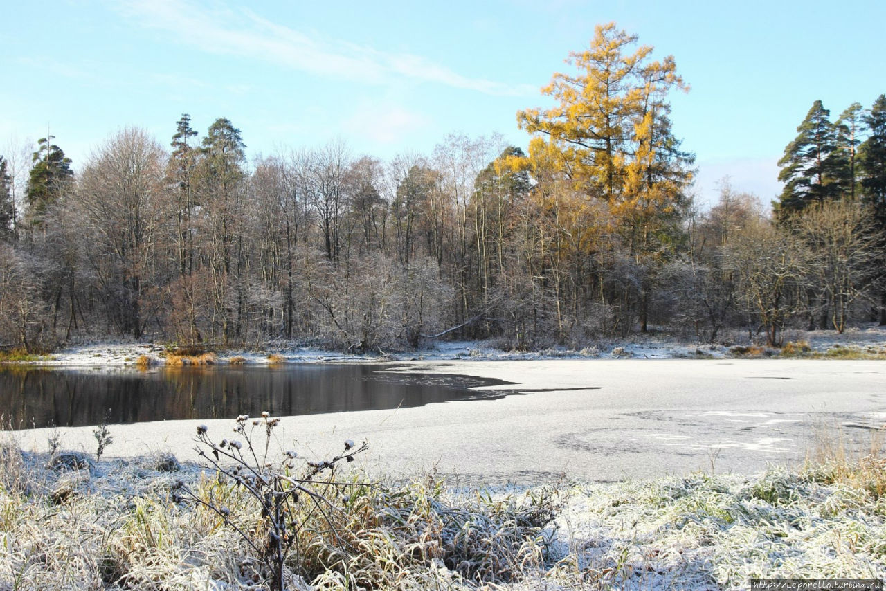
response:
[[(525, 395), (286, 416), (284, 444), (322, 455), (343, 439), (368, 439), (362, 462), (376, 472), (439, 470), (488, 484), (538, 484), (690, 470), (750, 473), (770, 463), (801, 463), (822, 437), (870, 445), (886, 424), (886, 362), (401, 362), (388, 369), (507, 380), (513, 384), (483, 389)], [(204, 422), (230, 431), (229, 419)], [(107, 454), (173, 450), (195, 459), (196, 424), (115, 425)], [(94, 447), (88, 427), (60, 432), (68, 447)], [(20, 433), (25, 447), (36, 448), (46, 446), (47, 435)]]

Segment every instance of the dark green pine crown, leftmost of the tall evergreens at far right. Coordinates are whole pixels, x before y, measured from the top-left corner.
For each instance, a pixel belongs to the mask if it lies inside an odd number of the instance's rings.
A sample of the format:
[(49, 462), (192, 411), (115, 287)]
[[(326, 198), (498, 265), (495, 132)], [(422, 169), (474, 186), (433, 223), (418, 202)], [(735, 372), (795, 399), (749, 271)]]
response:
[(817, 100), (797, 127), (798, 135), (778, 162), (785, 183), (776, 213), (801, 211), (811, 203), (840, 198), (840, 159), (830, 112)]

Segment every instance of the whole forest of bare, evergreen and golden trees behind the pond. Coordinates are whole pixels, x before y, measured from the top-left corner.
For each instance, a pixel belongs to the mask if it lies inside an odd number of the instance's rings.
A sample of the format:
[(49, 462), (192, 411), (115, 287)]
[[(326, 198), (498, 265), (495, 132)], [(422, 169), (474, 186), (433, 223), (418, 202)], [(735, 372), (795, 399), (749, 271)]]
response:
[(120, 128), (77, 174), (52, 136), (17, 146), (0, 158), (0, 346), (736, 330), (778, 346), (789, 327), (886, 323), (886, 96), (838, 117), (815, 101), (771, 206), (724, 179), (702, 211), (674, 59), (610, 24), (568, 63), (548, 107), (517, 113), (525, 150), (453, 134), (387, 161), (345, 140), (248, 161), (232, 121), (201, 136), (188, 114), (162, 143)]

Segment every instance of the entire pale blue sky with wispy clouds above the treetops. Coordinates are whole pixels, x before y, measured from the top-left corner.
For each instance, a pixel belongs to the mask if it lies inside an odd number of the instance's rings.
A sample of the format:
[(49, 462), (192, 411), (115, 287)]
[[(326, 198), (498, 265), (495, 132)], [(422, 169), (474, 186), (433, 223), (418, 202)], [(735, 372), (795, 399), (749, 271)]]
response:
[(190, 113), (255, 158), (345, 140), (354, 155), (430, 153), (449, 133), (525, 148), (516, 113), (596, 24), (672, 55), (691, 89), (673, 132), (696, 154), (696, 196), (719, 181), (781, 191), (777, 161), (812, 102), (835, 119), (886, 93), (886, 2), (671, 0), (7, 0), (0, 20), (0, 154), (56, 136), (82, 168), (116, 130), (168, 145)]

